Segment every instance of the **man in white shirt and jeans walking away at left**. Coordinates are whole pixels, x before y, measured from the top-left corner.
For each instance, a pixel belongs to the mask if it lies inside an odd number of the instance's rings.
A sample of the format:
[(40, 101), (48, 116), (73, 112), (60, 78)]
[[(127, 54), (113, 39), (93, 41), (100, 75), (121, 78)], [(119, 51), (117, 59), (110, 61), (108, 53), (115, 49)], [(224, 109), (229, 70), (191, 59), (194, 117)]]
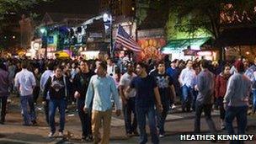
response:
[[(15, 88), (20, 95), (21, 109), (23, 111), (24, 125), (36, 125), (35, 104), (33, 99), (33, 89), (35, 88), (35, 76), (27, 70), (28, 63), (22, 62), (22, 71), (15, 77)], [(29, 104), (29, 111), (27, 109)]]

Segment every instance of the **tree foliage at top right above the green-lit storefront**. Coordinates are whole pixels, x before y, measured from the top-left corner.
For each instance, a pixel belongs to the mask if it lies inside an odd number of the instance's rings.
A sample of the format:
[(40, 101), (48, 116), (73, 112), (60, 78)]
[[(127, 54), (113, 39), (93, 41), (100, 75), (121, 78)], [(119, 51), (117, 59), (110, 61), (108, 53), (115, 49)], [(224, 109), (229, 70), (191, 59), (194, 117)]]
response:
[(225, 8), (225, 13), (233, 19), (235, 14), (239, 17), (244, 17), (244, 13), (252, 14), (254, 6), (254, 0), (172, 0), (167, 23), (168, 35), (172, 35), (170, 33), (173, 28), (189, 33), (204, 29), (218, 38), (221, 32), (221, 13)]

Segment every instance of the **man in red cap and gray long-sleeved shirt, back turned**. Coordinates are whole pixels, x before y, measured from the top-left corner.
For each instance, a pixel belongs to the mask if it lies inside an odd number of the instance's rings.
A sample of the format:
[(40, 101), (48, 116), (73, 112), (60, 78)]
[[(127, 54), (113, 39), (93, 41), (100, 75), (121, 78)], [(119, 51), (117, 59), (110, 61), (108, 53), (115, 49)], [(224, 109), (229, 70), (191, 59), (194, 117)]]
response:
[(237, 134), (243, 135), (247, 127), (248, 96), (251, 92), (252, 83), (243, 74), (242, 61), (236, 61), (234, 66), (237, 72), (229, 78), (227, 92), (223, 100), (224, 109), (226, 109), (225, 121), (227, 132), (232, 135), (235, 134), (232, 122), (237, 118)]

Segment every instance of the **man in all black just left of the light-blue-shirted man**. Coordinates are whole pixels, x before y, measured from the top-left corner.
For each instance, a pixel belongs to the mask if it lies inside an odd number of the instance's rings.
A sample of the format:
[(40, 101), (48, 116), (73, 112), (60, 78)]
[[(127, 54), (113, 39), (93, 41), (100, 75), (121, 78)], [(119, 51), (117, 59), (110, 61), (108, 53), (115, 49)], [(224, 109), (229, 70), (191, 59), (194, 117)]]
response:
[(88, 84), (91, 77), (95, 74), (90, 72), (88, 68), (88, 61), (81, 61), (80, 63), (81, 71), (77, 73), (73, 79), (74, 97), (77, 99), (77, 109), (78, 115), (82, 123), (83, 130), (83, 141), (93, 141), (92, 135), (92, 123), (91, 123), (91, 113), (85, 113), (83, 111), (85, 95), (87, 93)]

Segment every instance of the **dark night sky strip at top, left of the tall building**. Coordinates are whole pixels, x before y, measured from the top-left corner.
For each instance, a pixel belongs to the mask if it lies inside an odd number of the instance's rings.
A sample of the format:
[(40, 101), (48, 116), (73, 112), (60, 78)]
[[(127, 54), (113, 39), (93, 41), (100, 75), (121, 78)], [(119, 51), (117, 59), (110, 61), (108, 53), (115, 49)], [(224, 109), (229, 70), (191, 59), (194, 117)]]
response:
[(99, 0), (54, 0), (53, 3), (43, 3), (35, 8), (37, 13), (99, 13)]

